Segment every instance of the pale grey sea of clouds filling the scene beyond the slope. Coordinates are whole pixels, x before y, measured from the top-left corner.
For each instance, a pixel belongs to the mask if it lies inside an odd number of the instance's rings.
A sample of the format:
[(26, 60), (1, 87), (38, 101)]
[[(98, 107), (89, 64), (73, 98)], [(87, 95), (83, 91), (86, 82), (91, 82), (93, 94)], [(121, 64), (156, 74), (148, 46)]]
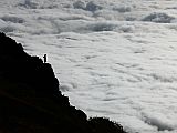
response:
[(1, 0), (0, 31), (54, 66), (90, 116), (177, 132), (175, 0)]

